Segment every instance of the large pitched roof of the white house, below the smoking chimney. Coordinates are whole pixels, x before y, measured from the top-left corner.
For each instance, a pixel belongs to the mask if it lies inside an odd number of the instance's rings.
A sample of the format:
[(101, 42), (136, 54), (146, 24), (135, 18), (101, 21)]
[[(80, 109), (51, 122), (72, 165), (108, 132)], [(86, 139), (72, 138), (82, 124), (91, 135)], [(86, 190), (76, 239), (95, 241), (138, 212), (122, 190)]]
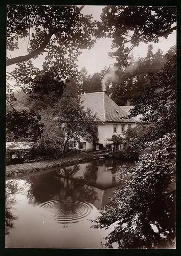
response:
[(101, 122), (135, 122), (133, 118), (126, 119), (125, 111), (110, 99), (105, 92), (85, 93), (81, 95), (85, 108), (89, 108)]

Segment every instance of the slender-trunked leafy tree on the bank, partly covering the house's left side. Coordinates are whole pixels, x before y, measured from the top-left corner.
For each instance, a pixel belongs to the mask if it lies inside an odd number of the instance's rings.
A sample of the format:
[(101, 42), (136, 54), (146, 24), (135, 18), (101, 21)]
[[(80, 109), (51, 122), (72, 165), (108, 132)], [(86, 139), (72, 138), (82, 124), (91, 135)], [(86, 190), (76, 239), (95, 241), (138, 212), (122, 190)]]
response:
[(57, 124), (64, 134), (63, 154), (66, 151), (70, 140), (80, 141), (80, 138), (87, 142), (93, 142), (97, 138), (96, 115), (89, 109), (84, 109), (80, 96), (72, 83), (68, 83), (60, 100), (55, 104)]

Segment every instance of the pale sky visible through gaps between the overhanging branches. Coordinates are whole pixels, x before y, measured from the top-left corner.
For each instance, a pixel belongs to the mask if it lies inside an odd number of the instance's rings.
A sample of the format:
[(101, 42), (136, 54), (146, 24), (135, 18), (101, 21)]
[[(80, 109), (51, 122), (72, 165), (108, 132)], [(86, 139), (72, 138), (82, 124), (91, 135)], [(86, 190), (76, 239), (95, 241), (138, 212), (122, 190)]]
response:
[[(102, 8), (104, 6), (85, 6), (82, 9), (83, 14), (92, 14), (93, 18), (96, 20), (100, 20), (100, 15)], [(111, 51), (111, 38), (101, 38), (99, 39), (95, 46), (91, 50), (82, 50), (82, 54), (78, 57), (78, 66), (79, 70), (83, 67), (87, 69), (88, 74), (94, 74), (96, 72), (100, 72), (105, 66), (112, 65), (116, 60), (110, 59), (108, 56), (108, 52)], [(168, 36), (167, 39), (161, 38), (160, 42), (157, 44), (151, 43), (153, 45), (153, 53), (157, 51), (158, 48), (161, 48), (162, 51), (165, 53), (170, 49), (171, 46), (176, 44), (176, 31)], [(140, 55), (140, 57), (146, 56), (148, 49), (148, 45), (141, 42), (139, 47), (135, 47), (132, 50), (133, 56), (135, 58)], [(12, 57), (16, 57), (19, 55), (26, 55), (27, 54), (27, 40), (21, 41), (19, 45), (19, 50), (15, 50), (10, 52)], [(10, 55), (8, 53), (8, 56)], [(33, 60), (34, 65), (38, 68), (41, 68), (43, 62), (43, 55), (38, 57), (37, 59)], [(7, 71), (10, 72), (15, 68), (15, 65), (7, 67)], [(11, 84), (15, 84), (15, 81), (11, 82)]]

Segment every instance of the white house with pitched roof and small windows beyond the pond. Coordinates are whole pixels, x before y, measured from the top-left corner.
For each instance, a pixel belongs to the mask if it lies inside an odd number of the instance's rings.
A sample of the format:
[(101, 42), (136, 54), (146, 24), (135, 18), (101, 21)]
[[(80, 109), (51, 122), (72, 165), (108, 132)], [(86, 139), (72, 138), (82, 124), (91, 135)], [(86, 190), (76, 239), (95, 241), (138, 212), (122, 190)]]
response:
[[(104, 91), (82, 94), (81, 101), (84, 108), (89, 108), (99, 119), (97, 150), (101, 150), (107, 144), (112, 144), (112, 135), (123, 135), (128, 127), (135, 126), (135, 122), (138, 121), (134, 118), (126, 118), (128, 113), (110, 99)], [(80, 142), (73, 141), (71, 147), (93, 150), (93, 144), (83, 139)]]

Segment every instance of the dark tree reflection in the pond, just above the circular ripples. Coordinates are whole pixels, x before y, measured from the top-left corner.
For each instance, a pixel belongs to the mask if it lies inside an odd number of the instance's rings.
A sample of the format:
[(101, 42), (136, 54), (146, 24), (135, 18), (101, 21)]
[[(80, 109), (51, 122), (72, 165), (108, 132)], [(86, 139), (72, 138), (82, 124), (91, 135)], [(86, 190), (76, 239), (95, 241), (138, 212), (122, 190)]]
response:
[(76, 177), (79, 165), (65, 167), (29, 177), (30, 203), (43, 203), (54, 199), (87, 201), (94, 203), (98, 196), (93, 187), (85, 184), (82, 177)]

